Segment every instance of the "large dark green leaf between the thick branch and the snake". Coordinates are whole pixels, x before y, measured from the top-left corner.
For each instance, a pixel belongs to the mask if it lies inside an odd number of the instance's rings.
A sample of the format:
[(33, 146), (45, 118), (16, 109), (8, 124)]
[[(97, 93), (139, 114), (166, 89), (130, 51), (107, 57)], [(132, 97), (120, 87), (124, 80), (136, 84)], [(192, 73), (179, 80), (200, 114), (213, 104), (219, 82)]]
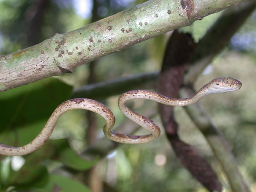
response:
[(54, 78), (0, 93), (0, 143), (22, 146), (44, 127), (54, 109), (68, 99), (72, 87)]

